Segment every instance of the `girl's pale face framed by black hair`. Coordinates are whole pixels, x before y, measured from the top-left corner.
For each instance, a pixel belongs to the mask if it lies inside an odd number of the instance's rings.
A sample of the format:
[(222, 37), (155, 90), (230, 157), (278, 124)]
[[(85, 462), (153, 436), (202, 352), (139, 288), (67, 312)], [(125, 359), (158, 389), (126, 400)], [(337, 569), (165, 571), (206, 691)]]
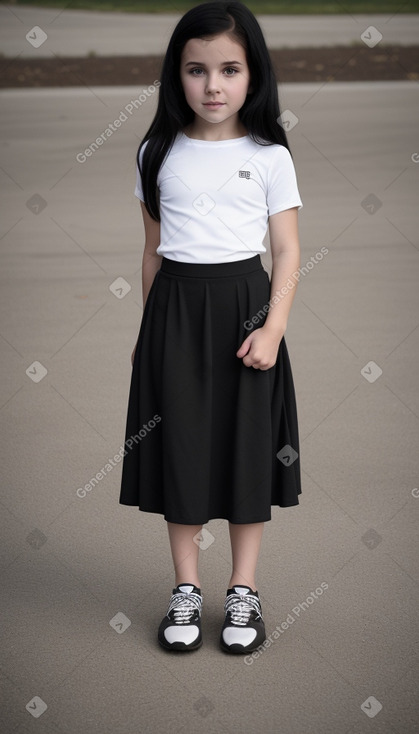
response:
[(200, 126), (237, 124), (250, 83), (243, 46), (226, 34), (191, 38), (182, 52), (180, 78)]

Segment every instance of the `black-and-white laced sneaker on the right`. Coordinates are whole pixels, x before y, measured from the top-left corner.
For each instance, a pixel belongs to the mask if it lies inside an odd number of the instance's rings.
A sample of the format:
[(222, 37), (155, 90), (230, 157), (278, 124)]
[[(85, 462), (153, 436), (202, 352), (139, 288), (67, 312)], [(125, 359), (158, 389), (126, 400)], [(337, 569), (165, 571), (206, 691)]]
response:
[(259, 594), (250, 586), (227, 590), (225, 620), (220, 644), (227, 652), (241, 654), (256, 650), (266, 639)]

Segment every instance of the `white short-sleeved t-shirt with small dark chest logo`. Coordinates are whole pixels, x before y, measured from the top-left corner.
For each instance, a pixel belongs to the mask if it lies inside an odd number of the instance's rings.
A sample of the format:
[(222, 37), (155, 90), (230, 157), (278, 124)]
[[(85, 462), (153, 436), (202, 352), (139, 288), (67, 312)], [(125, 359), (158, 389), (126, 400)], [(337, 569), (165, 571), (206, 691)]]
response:
[[(248, 135), (209, 141), (178, 133), (157, 186), (157, 254), (180, 262), (223, 263), (262, 254), (268, 216), (303, 206), (287, 148), (259, 145)], [(138, 167), (135, 195), (144, 201)]]

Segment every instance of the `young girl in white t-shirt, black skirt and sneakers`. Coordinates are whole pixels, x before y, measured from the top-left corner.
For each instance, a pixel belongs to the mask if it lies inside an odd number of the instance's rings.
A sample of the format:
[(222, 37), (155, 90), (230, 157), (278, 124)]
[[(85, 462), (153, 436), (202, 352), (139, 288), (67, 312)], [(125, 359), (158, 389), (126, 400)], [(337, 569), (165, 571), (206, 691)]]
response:
[(265, 640), (264, 523), (301, 492), (284, 333), (302, 203), (269, 53), (241, 2), (203, 3), (179, 21), (137, 162), (144, 313), (119, 501), (167, 521), (175, 588), (158, 640), (169, 650), (202, 644), (201, 530), (228, 520), (220, 644), (248, 653)]

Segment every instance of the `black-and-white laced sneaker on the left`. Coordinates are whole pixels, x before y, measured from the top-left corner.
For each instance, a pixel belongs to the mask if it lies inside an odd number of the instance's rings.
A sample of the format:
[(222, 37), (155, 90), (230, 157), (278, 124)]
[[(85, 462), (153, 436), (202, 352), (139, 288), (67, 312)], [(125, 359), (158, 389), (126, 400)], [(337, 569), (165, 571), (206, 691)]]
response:
[(158, 640), (167, 650), (196, 650), (202, 645), (201, 589), (179, 584), (173, 589), (169, 608), (161, 621)]

